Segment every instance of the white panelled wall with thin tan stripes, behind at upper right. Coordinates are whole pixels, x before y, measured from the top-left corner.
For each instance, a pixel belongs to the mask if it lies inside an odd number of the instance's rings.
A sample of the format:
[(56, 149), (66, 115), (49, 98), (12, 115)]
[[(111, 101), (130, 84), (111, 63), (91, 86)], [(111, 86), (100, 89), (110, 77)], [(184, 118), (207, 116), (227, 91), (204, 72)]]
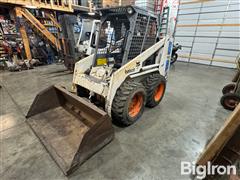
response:
[(180, 0), (179, 60), (235, 67), (240, 52), (240, 0)]

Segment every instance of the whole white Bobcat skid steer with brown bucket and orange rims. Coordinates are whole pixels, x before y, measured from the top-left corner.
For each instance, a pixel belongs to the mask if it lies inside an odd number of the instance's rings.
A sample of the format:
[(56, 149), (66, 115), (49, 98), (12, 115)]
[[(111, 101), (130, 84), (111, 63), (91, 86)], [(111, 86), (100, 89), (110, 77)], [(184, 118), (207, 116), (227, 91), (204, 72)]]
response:
[(135, 6), (99, 13), (96, 52), (75, 65), (77, 95), (52, 86), (37, 95), (27, 115), (66, 175), (113, 139), (111, 119), (133, 124), (145, 106), (159, 104), (166, 88), (172, 38), (158, 31), (158, 18)]

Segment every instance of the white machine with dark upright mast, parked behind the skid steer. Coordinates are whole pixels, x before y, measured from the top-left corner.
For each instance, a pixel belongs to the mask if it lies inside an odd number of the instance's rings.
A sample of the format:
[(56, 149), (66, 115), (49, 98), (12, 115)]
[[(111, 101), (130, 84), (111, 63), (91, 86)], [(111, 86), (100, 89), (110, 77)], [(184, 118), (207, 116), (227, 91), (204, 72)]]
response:
[(77, 61), (94, 53), (95, 31), (100, 20), (91, 16), (69, 14), (59, 17), (64, 42), (64, 65), (68, 70), (73, 71)]

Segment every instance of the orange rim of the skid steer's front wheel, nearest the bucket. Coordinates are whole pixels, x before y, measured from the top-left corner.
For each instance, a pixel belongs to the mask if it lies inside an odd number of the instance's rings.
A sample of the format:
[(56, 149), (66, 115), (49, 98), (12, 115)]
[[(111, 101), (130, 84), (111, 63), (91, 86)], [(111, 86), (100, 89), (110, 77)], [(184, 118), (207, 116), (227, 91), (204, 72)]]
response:
[(135, 117), (141, 111), (143, 105), (143, 95), (141, 93), (137, 93), (133, 96), (132, 101), (130, 103), (128, 114), (130, 117)]

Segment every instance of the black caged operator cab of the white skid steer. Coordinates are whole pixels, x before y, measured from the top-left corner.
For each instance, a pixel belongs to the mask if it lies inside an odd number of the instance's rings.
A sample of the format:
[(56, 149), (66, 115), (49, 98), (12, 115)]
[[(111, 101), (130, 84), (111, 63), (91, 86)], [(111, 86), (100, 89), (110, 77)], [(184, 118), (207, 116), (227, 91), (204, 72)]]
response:
[(155, 44), (157, 17), (146, 10), (126, 6), (99, 9), (99, 13), (102, 23), (93, 66), (118, 69)]

